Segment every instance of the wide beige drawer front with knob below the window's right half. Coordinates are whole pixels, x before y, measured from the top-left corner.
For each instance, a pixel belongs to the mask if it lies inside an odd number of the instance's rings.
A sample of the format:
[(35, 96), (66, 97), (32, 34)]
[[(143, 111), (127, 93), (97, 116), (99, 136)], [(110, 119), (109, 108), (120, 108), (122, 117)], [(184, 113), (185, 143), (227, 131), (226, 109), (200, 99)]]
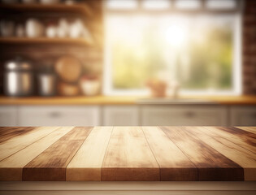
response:
[(226, 126), (228, 109), (217, 105), (142, 106), (142, 125)]

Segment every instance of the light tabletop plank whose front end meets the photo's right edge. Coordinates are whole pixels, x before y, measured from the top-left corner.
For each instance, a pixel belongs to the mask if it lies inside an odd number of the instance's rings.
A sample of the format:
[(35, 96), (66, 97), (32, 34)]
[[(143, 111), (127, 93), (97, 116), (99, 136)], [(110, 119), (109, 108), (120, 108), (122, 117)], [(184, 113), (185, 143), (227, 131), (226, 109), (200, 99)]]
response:
[(245, 180), (256, 180), (256, 154), (220, 137), (215, 132), (206, 131), (205, 128), (207, 127), (184, 129), (243, 167)]

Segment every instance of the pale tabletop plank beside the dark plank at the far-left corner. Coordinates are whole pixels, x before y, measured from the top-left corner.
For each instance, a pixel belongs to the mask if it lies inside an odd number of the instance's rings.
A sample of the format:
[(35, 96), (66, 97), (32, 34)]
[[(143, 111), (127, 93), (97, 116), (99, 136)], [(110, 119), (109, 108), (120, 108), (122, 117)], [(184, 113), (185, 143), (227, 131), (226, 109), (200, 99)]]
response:
[(33, 144), (33, 142), (40, 140), (42, 137), (46, 137), (57, 128), (58, 127), (35, 128), (32, 132), (28, 132), (20, 137), (13, 137), (8, 141), (0, 143), (0, 161), (24, 149), (28, 145)]

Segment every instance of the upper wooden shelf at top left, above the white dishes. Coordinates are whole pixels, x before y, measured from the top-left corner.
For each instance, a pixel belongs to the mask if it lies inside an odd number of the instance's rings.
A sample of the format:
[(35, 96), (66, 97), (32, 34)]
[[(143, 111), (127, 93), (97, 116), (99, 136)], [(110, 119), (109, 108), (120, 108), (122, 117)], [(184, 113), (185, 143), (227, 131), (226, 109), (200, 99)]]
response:
[(73, 12), (80, 13), (87, 16), (92, 15), (92, 11), (88, 5), (84, 3), (74, 4), (74, 5), (65, 5), (65, 4), (53, 4), (53, 5), (41, 5), (41, 4), (14, 4), (6, 5), (0, 4), (1, 11), (17, 11), (17, 12), (26, 12), (26, 11), (43, 11), (43, 12)]

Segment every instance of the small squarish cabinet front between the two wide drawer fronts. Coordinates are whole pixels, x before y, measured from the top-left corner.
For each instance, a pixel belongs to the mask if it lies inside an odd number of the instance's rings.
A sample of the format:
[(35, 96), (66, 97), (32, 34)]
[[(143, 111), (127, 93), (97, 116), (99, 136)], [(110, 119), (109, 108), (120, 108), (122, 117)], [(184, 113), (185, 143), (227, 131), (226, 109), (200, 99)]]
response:
[(139, 125), (138, 106), (104, 106), (103, 125), (137, 126)]

